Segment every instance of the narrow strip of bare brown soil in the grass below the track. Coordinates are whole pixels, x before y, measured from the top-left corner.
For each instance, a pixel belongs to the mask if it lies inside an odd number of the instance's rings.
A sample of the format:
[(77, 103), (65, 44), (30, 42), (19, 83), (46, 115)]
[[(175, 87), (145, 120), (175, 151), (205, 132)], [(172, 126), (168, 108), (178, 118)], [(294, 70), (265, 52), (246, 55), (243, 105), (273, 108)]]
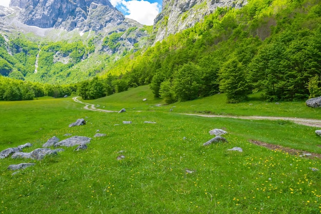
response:
[[(304, 151), (304, 150), (292, 149), (289, 147), (269, 144), (269, 143), (265, 143), (265, 142), (255, 141), (255, 140), (249, 140), (249, 142), (256, 144), (258, 146), (263, 146), (263, 147), (271, 149), (271, 150), (277, 149), (277, 150), (282, 150), (284, 152), (288, 152), (289, 154), (293, 154), (293, 155), (302, 155), (302, 157), (320, 158), (321, 159), (321, 154), (318, 154), (318, 153), (312, 153), (312, 152), (308, 152), (308, 151)], [(307, 154), (311, 154), (311, 155), (307, 155)]]

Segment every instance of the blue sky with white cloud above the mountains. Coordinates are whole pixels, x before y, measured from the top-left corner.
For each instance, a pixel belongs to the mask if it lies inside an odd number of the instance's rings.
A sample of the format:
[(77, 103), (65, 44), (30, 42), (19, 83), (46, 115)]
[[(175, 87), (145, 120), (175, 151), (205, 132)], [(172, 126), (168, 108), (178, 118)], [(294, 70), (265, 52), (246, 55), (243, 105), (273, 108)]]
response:
[[(143, 25), (153, 25), (154, 18), (162, 10), (163, 0), (109, 0), (119, 11)], [(0, 0), (0, 5), (9, 6), (10, 0)]]

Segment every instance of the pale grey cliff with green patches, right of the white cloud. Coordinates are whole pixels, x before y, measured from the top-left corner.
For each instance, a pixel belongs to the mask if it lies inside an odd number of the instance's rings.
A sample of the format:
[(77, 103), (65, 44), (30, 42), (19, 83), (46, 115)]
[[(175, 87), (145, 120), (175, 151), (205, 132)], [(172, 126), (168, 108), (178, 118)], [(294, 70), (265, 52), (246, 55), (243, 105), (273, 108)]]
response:
[(240, 8), (246, 4), (247, 0), (163, 0), (162, 12), (154, 20), (155, 42), (194, 26), (218, 7)]

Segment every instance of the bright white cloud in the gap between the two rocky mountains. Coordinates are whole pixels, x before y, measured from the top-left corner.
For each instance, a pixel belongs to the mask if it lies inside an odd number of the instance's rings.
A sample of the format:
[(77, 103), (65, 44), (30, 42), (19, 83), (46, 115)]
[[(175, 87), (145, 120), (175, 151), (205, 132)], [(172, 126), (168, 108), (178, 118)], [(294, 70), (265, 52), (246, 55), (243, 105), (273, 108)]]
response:
[(158, 3), (150, 3), (144, 0), (128, 2), (123, 0), (122, 4), (126, 7), (126, 12), (129, 13), (126, 17), (143, 25), (153, 25), (156, 15), (160, 12)]

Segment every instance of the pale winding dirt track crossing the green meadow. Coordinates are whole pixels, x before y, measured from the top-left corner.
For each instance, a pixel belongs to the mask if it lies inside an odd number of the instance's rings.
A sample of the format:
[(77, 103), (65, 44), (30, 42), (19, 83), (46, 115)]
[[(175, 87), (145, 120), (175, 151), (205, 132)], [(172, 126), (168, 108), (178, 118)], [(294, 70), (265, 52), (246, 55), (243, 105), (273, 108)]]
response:
[[(118, 111), (110, 111), (104, 109), (97, 109), (95, 108), (94, 104), (84, 103), (79, 101), (76, 96), (73, 100), (77, 103), (81, 103), (85, 105), (85, 109), (90, 111), (101, 111), (101, 112), (118, 112)], [(204, 116), (206, 118), (234, 118), (234, 119), (244, 119), (244, 120), (286, 120), (292, 121), (294, 123), (305, 125), (305, 126), (312, 126), (312, 127), (320, 127), (321, 128), (321, 120), (314, 120), (314, 119), (304, 119), (304, 118), (287, 118), (287, 117), (280, 117), (280, 116), (232, 116), (232, 115), (214, 115), (214, 114), (184, 114), (184, 115), (194, 115), (194, 116)]]

